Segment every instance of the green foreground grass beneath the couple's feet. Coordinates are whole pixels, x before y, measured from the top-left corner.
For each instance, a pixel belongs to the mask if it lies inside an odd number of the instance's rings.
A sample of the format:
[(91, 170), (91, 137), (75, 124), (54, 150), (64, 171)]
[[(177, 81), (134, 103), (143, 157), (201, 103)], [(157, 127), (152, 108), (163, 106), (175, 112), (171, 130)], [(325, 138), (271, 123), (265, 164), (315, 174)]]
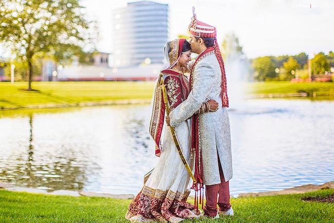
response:
[[(235, 216), (184, 222), (333, 222), (334, 203), (305, 202), (334, 189), (306, 194), (232, 198)], [(193, 200), (190, 200), (193, 202)], [(0, 190), (0, 222), (126, 222), (130, 200), (68, 197)]]

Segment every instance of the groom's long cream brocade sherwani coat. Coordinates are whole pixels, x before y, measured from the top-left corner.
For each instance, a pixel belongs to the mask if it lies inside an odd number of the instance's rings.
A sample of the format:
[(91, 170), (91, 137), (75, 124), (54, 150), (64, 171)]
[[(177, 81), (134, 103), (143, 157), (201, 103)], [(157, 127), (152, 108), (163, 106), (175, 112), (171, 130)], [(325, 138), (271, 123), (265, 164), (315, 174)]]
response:
[(199, 114), (199, 140), (203, 160), (203, 182), (220, 183), (218, 155), (225, 180), (232, 178), (230, 122), (226, 107), (221, 101), (221, 71), (214, 52), (203, 57), (194, 67), (193, 88), (187, 98), (170, 114), (171, 126), (190, 118), (207, 100), (219, 103), (216, 112)]

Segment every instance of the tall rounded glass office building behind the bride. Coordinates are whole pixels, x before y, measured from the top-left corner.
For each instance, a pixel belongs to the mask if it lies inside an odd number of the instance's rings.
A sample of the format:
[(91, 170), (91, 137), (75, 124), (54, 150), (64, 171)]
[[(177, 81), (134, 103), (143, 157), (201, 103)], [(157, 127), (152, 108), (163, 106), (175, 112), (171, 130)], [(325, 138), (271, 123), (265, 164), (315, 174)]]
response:
[(113, 66), (163, 63), (169, 7), (150, 1), (128, 3), (113, 11)]

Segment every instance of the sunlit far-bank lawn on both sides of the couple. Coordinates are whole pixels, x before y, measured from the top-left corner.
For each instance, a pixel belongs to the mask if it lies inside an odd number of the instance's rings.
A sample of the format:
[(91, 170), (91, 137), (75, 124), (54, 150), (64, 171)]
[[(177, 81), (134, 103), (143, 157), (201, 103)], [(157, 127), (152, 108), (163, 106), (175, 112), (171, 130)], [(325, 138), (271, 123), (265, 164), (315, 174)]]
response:
[[(26, 91), (27, 82), (0, 82), (0, 109), (54, 107), (79, 103), (150, 101), (154, 82), (33, 82), (38, 91)], [(246, 84), (248, 94), (289, 94), (307, 92), (317, 98), (334, 99), (334, 83), (253, 82)], [(320, 97), (319, 97), (320, 96)], [(313, 98), (314, 99), (314, 98)]]

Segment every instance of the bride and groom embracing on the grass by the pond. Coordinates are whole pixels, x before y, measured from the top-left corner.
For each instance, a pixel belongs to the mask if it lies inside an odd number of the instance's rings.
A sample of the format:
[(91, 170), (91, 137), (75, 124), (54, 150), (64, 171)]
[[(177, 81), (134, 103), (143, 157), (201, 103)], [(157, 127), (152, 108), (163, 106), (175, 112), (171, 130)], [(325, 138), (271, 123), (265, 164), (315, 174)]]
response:
[[(229, 192), (232, 178), (229, 101), (216, 28), (198, 21), (194, 13), (189, 31), (190, 42), (177, 39), (164, 47), (168, 63), (161, 74), (171, 113), (165, 114), (163, 89), (158, 81), (150, 134), (159, 160), (128, 208), (125, 218), (131, 222), (180, 222), (202, 215), (219, 218), (219, 214), (234, 214)], [(195, 61), (191, 61), (191, 52), (199, 54)], [(184, 75), (187, 70), (189, 79)], [(182, 162), (171, 128), (194, 175), (189, 174)], [(190, 189), (195, 190), (195, 205), (187, 202)], [(204, 213), (200, 213), (198, 204)]]

